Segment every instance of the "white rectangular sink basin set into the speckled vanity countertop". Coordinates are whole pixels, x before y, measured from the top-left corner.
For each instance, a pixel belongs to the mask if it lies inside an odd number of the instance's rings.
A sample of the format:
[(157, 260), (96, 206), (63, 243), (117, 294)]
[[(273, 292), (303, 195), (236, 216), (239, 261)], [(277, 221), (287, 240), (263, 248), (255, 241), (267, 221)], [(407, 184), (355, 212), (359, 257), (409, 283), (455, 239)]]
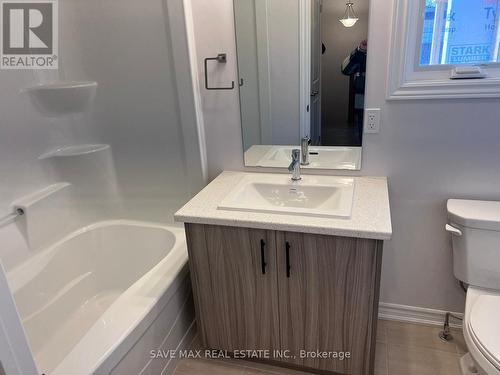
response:
[(218, 205), (221, 210), (350, 217), (354, 180), (335, 176), (245, 176)]

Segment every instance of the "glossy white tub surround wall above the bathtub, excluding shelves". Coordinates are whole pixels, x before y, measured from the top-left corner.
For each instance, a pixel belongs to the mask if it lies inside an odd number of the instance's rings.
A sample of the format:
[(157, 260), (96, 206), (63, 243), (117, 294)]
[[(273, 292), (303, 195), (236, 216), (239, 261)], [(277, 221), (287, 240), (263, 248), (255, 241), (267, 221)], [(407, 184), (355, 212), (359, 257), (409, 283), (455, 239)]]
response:
[[(91, 176), (102, 165), (81, 168), (80, 159), (66, 170), (84, 184), (80, 192), (89, 199), (83, 207), (71, 205), (95, 211), (97, 220), (173, 222), (173, 213), (203, 185), (195, 111), (186, 110), (194, 99), (182, 5), (182, 0), (59, 2), (59, 72), (0, 71), (0, 217), (11, 212), (15, 199), (68, 177), (51, 173), (40, 155), (107, 143), (114, 166), (108, 182), (119, 193), (110, 202), (115, 209), (100, 209), (102, 196)], [(97, 81), (93, 106), (84, 115), (43, 117), (21, 90), (54, 79)], [(28, 246), (22, 229), (0, 228), (0, 265), (7, 273), (40, 250)], [(10, 298), (0, 290), (0, 306)], [(5, 312), (0, 315), (1, 323)], [(6, 354), (0, 342), (0, 359)]]

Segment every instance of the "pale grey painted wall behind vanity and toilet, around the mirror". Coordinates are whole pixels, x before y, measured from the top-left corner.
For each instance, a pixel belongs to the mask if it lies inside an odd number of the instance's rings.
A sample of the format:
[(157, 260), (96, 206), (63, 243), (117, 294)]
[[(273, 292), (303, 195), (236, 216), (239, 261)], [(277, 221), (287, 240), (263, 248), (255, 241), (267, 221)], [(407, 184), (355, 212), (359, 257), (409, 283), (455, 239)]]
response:
[[(192, 1), (202, 8), (204, 1)], [(195, 19), (198, 38), (203, 35), (198, 49), (234, 56), (231, 4), (219, 0), (199, 9), (207, 17)], [(443, 230), (445, 201), (500, 200), (500, 103), (386, 102), (391, 14), (392, 1), (372, 0), (366, 104), (382, 108), (382, 130), (366, 135), (357, 173), (389, 177), (394, 235), (385, 245), (381, 301), (461, 311), (464, 295), (452, 274), (450, 239)], [(226, 79), (233, 79), (234, 69), (231, 58)], [(202, 90), (202, 96), (210, 103), (205, 116), (210, 177), (243, 170), (237, 93)]]

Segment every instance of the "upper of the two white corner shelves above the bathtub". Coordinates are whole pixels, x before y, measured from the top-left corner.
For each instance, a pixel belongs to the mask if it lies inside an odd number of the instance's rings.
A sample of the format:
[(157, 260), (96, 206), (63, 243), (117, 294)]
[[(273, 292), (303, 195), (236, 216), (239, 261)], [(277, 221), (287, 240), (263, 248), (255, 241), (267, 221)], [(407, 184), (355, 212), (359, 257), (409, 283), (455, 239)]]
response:
[(42, 114), (56, 117), (85, 111), (95, 97), (97, 82), (52, 82), (28, 87), (22, 91), (28, 94), (33, 105)]

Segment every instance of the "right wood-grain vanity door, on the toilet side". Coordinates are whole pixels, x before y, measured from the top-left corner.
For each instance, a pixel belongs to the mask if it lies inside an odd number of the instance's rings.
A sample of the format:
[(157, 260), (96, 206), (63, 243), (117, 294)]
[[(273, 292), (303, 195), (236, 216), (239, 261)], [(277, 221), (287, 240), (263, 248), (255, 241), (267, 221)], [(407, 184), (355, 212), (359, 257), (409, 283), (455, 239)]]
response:
[[(290, 362), (373, 374), (382, 242), (288, 232), (276, 238), (281, 349), (295, 355)], [(350, 359), (318, 356), (325, 352), (349, 352)]]

